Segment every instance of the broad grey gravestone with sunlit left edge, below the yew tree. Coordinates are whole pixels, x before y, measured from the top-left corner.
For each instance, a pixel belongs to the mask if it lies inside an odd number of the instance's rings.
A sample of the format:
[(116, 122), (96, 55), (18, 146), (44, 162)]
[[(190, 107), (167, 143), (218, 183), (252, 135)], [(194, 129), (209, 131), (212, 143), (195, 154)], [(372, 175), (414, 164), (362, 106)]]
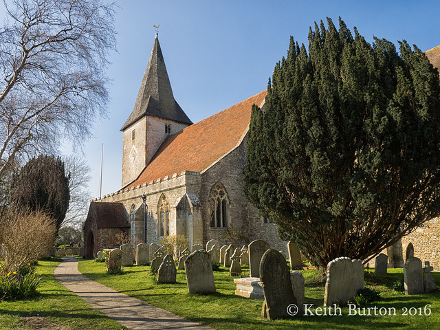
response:
[(346, 306), (364, 288), (364, 265), (359, 259), (336, 258), (327, 265), (324, 306)]

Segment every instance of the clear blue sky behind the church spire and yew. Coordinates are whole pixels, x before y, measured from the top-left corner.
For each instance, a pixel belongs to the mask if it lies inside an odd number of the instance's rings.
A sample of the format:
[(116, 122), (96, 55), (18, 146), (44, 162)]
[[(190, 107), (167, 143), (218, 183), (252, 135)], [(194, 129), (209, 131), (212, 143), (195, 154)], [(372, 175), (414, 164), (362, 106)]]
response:
[[(99, 196), (104, 142), (102, 195), (121, 188), (122, 132), (159, 24), (175, 100), (192, 122), (263, 91), (274, 65), (287, 54), (289, 36), (307, 45), (314, 21), (342, 17), (367, 41), (406, 39), (421, 50), (440, 45), (440, 1), (118, 1), (115, 16), (118, 53), (107, 70), (111, 102), (108, 119), (94, 124), (96, 138), (85, 145), (92, 169), (89, 189)], [(67, 148), (65, 153), (70, 153)]]

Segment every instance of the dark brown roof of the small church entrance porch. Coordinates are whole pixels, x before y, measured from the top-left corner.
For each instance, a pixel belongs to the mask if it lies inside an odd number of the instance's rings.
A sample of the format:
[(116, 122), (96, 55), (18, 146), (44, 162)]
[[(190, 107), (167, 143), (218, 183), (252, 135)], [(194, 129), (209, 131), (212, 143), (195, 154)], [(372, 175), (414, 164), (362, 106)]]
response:
[(96, 221), (98, 228), (130, 228), (122, 203), (104, 203), (92, 201), (87, 219)]

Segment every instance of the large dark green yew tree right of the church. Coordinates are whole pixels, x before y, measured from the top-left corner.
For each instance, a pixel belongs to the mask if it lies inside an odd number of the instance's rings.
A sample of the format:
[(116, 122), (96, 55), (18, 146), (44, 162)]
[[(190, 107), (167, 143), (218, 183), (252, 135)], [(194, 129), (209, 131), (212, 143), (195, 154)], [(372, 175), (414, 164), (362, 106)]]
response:
[(440, 214), (439, 72), (340, 19), (290, 41), (248, 134), (245, 195), (314, 265), (369, 259)]

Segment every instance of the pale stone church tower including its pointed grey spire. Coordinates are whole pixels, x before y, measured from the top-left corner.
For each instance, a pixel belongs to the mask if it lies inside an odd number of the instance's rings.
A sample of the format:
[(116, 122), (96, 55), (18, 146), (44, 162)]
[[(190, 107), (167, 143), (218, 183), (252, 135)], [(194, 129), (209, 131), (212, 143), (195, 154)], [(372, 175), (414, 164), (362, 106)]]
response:
[(122, 187), (135, 180), (165, 138), (192, 124), (174, 99), (157, 33), (135, 107), (122, 129)]

